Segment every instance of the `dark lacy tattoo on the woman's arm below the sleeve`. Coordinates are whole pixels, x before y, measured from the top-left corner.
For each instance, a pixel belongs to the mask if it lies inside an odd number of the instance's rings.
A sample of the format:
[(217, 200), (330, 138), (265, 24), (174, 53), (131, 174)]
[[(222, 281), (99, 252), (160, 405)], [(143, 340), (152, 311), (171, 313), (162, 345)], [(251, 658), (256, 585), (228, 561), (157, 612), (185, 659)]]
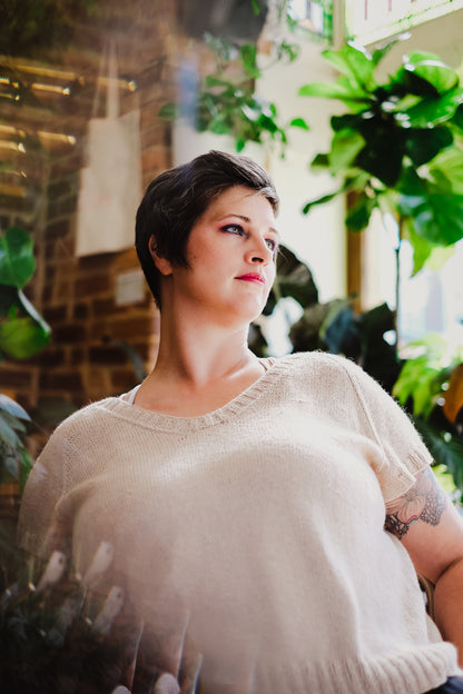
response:
[(417, 520), (437, 525), (445, 508), (445, 492), (439, 486), (431, 469), (420, 473), (408, 492), (386, 504), (386, 531), (402, 539)]

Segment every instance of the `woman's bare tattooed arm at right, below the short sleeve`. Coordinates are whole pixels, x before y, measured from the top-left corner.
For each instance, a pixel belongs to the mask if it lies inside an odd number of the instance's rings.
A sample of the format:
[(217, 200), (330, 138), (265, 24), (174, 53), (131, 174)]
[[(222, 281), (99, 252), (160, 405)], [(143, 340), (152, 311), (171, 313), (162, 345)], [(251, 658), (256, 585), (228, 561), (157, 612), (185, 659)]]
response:
[(435, 584), (434, 616), (463, 666), (463, 518), (430, 468), (386, 504), (385, 528), (408, 552), (416, 572)]

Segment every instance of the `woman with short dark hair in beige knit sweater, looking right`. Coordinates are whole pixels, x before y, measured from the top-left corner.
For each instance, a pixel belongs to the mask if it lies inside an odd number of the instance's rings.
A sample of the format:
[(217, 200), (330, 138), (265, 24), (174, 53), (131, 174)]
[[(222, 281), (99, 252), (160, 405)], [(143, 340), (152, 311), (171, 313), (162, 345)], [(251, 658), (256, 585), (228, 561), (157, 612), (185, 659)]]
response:
[(156, 366), (51, 436), (21, 542), (71, 547), (88, 581), (107, 552), (99, 589), (124, 588), (154, 671), (198, 692), (463, 692), (463, 527), (408, 418), (347, 359), (247, 347), (277, 206), (260, 167), (217, 151), (151, 182)]

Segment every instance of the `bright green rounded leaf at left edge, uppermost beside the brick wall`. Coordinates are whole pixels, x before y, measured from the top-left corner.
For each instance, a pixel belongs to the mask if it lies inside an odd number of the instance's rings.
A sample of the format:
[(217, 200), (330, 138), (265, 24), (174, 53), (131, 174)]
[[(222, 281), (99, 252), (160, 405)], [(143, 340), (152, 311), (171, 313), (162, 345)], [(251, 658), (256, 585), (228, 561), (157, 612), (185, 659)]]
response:
[(33, 240), (21, 227), (10, 227), (0, 236), (0, 284), (21, 289), (36, 270)]

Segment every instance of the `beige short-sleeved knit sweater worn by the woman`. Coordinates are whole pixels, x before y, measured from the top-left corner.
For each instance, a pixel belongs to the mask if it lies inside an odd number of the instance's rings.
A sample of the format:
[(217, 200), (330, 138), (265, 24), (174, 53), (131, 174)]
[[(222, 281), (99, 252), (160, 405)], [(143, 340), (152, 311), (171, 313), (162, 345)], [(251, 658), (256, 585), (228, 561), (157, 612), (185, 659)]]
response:
[[(205, 691), (421, 694), (457, 673), (385, 500), (428, 465), (398, 405), (321, 353), (276, 359), (225, 407), (173, 417), (107, 398), (36, 463), (22, 544), (101, 542), (159, 641), (188, 635)], [(227, 690), (228, 691), (228, 690)]]

